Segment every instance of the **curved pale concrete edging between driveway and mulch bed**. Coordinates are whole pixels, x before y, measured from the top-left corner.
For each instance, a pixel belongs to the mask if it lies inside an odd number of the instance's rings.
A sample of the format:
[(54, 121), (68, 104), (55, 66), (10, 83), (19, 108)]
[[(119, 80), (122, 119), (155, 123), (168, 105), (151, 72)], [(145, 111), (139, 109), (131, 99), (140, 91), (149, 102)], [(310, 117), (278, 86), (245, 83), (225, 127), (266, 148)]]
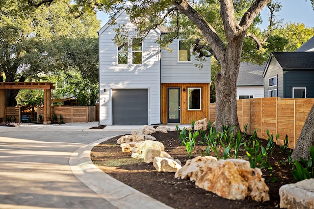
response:
[(85, 185), (119, 209), (171, 209), (163, 203), (117, 181), (95, 166), (90, 158), (93, 147), (112, 138), (99, 139), (78, 148), (69, 159), (73, 174)]

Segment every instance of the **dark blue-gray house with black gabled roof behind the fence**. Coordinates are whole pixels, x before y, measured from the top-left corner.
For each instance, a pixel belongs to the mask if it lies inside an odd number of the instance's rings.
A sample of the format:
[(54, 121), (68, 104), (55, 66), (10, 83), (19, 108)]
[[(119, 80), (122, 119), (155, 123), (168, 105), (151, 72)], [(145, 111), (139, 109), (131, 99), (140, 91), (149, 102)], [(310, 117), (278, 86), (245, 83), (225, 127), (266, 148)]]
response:
[(314, 52), (272, 52), (263, 78), (264, 97), (314, 98)]

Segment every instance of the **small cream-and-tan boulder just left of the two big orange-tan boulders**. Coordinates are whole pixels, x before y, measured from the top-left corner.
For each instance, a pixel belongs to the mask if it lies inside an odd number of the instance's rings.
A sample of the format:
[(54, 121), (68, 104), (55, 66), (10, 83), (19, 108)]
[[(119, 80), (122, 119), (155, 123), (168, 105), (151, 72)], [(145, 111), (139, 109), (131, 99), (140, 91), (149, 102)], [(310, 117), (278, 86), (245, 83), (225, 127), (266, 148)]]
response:
[(181, 165), (173, 158), (155, 157), (153, 165), (158, 172), (176, 172), (181, 168)]

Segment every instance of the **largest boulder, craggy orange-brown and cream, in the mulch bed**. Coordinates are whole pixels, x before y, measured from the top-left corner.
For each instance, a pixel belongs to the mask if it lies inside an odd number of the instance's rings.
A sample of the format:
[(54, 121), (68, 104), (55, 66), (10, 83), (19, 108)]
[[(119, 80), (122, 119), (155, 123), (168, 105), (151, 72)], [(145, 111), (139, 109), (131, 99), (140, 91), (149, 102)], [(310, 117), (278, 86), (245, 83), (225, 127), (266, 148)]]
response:
[(252, 169), (243, 159), (218, 160), (207, 164), (195, 185), (231, 200), (248, 197), (255, 201), (268, 201), (269, 188), (259, 168)]

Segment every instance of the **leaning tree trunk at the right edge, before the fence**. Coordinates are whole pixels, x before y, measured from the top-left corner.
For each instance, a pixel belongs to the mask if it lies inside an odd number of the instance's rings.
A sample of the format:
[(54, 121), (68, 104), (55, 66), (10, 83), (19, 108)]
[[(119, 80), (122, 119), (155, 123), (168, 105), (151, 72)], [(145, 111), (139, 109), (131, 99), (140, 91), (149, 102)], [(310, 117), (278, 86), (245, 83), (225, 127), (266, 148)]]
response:
[(295, 149), (292, 152), (292, 160), (299, 160), (300, 157), (307, 160), (310, 155), (309, 149), (311, 145), (314, 145), (314, 105), (305, 120)]

